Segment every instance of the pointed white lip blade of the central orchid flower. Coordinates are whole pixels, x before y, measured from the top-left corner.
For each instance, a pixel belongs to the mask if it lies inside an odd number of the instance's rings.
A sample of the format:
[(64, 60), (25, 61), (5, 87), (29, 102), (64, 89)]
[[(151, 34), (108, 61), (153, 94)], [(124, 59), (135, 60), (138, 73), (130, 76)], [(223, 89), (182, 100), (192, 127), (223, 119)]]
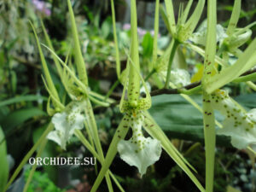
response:
[(144, 147), (140, 150), (136, 143), (121, 140), (118, 144), (118, 151), (122, 160), (130, 166), (137, 166), (141, 176), (147, 171), (148, 166), (160, 159), (160, 141), (150, 137), (144, 140)]

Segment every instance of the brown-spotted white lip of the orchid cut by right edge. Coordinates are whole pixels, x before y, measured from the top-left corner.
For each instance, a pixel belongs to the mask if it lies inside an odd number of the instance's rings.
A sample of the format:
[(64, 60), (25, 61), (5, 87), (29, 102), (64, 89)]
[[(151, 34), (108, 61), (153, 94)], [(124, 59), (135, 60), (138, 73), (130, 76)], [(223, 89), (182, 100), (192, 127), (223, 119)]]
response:
[(218, 90), (212, 95), (212, 107), (225, 117), (224, 128), (218, 130), (218, 134), (230, 136), (231, 144), (236, 148), (256, 144), (256, 108), (245, 111), (225, 90)]

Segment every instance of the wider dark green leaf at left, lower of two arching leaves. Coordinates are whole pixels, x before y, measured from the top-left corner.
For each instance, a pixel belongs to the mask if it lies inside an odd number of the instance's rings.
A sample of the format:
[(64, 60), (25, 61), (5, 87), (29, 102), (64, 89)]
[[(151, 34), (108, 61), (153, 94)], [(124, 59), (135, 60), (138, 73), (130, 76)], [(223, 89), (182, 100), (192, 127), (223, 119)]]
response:
[(5, 131), (11, 131), (18, 125), (22, 125), (27, 119), (36, 116), (46, 116), (47, 114), (39, 108), (22, 108), (9, 113), (1, 122)]

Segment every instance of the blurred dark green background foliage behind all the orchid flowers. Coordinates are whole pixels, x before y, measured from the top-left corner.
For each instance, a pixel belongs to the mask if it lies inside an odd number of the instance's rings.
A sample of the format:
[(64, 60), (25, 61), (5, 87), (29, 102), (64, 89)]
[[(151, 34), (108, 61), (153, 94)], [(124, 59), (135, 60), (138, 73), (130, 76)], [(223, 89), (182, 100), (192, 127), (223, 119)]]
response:
[[(130, 44), (129, 0), (114, 2), (118, 21), (121, 67), (124, 69), (126, 58), (123, 48), (129, 47)], [(175, 10), (178, 10), (180, 3), (187, 3), (182, 0), (173, 2)], [(73, 0), (72, 3), (79, 27), (84, 61), (89, 72), (90, 88), (106, 95), (117, 79), (110, 1)], [(218, 1), (219, 24), (227, 26), (232, 4), (231, 0)], [(151, 62), (153, 51), (154, 0), (137, 1), (137, 6), (140, 59), (145, 77), (148, 74), (148, 65)], [(207, 10), (204, 11), (201, 22), (206, 19), (206, 14)], [(50, 121), (45, 112), (48, 94), (41, 78), (42, 70), (38, 49), (28, 20), (32, 20), (37, 28), (40, 41), (44, 43), (44, 34), (40, 24), (40, 20), (43, 20), (56, 53), (65, 59), (73, 46), (70, 23), (67, 18), (66, 1), (0, 0), (0, 128), (2, 127), (5, 136), (0, 137), (0, 147), (5, 148), (6, 143), (8, 155), (3, 154), (9, 160), (9, 175), (13, 173), (15, 167), (19, 165), (20, 160), (37, 141)], [(256, 20), (256, 1), (243, 0), (241, 20), (238, 26), (247, 26), (254, 20)], [(256, 26), (253, 26), (252, 30), (253, 38), (256, 35)], [(167, 35), (164, 21), (160, 19), (159, 54), (166, 49), (169, 42), (170, 37)], [(66, 98), (66, 92), (57, 75), (52, 58), (46, 49), (43, 50), (55, 86), (60, 96)], [(177, 62), (185, 62), (191, 76), (199, 72), (203, 61), (201, 56), (185, 47), (181, 47), (179, 51)], [(153, 80), (150, 84), (152, 90), (158, 85)], [(230, 84), (227, 89), (244, 107), (256, 108), (255, 93), (247, 84)], [(119, 101), (121, 90), (122, 87), (119, 85), (111, 97)], [(195, 96), (195, 101), (199, 104), (201, 104), (200, 100), (200, 96)], [(106, 152), (121, 114), (119, 108), (114, 106), (95, 108), (95, 113), (100, 138)], [(170, 139), (173, 139), (177, 148), (195, 166), (198, 171), (197, 177), (204, 183), (205, 164), (201, 114), (181, 96), (155, 96), (150, 113)], [(67, 146), (67, 151), (62, 151), (49, 141), (43, 154), (43, 156), (79, 155), (90, 156), (91, 154), (81, 147), (76, 139), (73, 139), (73, 142)], [(243, 192), (255, 191), (254, 166), (255, 160), (250, 159), (245, 151), (231, 148), (229, 138), (218, 137), (214, 191), (221, 192), (227, 188), (230, 192), (234, 191), (231, 186)], [(119, 158), (113, 161), (111, 168), (119, 176), (119, 180), (127, 191), (197, 190), (166, 154), (162, 154), (160, 161), (149, 168), (150, 170), (143, 179), (138, 177), (134, 167), (127, 166)], [(20, 187), (24, 186), (26, 177), (27, 172), (24, 169), (9, 191), (20, 191), (17, 189), (22, 189)], [(63, 191), (67, 189), (89, 191), (95, 178), (94, 167), (38, 167), (29, 191), (62, 191), (58, 187), (65, 188)], [(19, 187), (15, 188), (15, 185)], [(100, 191), (107, 191), (106, 185), (102, 185)]]

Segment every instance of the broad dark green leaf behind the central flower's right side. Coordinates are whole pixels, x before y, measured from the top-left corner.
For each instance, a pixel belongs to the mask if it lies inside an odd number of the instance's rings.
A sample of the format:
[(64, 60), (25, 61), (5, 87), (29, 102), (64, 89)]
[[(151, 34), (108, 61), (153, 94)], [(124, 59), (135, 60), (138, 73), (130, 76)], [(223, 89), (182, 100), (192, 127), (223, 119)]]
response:
[[(201, 96), (191, 96), (201, 105)], [(194, 142), (204, 142), (202, 115), (194, 106), (179, 95), (161, 95), (152, 97), (152, 107), (148, 112), (168, 137)], [(216, 119), (222, 116), (217, 113)], [(230, 138), (217, 136), (219, 146), (231, 146)]]

